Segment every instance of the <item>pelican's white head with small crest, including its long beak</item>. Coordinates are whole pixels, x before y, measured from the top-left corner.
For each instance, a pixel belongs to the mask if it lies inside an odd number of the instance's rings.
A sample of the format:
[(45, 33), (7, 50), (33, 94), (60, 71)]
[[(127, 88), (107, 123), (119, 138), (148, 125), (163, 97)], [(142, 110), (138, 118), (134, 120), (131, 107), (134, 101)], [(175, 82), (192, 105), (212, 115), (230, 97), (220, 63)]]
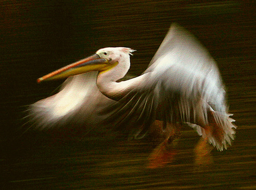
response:
[(105, 47), (87, 58), (57, 69), (37, 79), (37, 82), (67, 78), (91, 71), (105, 73), (121, 63), (125, 63), (123, 67), (127, 66), (127, 62), (129, 62), (128, 66), (130, 67), (130, 55), (132, 55), (132, 52), (134, 50), (129, 47)]

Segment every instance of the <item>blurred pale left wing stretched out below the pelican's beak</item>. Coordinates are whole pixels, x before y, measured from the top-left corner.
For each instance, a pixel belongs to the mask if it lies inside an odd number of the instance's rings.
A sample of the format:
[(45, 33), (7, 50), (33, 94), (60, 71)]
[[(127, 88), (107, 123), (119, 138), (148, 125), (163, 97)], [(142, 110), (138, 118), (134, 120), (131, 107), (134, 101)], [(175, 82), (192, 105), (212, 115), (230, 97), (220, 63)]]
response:
[(68, 78), (58, 93), (30, 106), (30, 118), (37, 128), (44, 129), (72, 122), (95, 126), (104, 118), (99, 110), (113, 104), (96, 85), (97, 72)]

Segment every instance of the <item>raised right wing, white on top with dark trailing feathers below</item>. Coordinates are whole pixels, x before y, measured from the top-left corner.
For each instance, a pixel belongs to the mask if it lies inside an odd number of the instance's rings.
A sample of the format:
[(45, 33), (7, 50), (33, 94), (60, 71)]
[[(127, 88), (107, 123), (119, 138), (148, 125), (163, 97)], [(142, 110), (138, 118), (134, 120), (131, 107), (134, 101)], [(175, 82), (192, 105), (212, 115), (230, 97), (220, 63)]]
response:
[[(214, 111), (219, 124), (225, 123), (224, 143), (232, 138), (234, 126), (226, 113), (225, 90), (216, 63), (185, 29), (176, 24), (170, 27), (138, 80), (139, 85), (112, 106), (114, 111), (107, 120), (112, 125), (133, 128), (137, 123), (141, 127), (134, 136), (140, 138), (160, 117), (165, 124), (185, 122), (204, 134), (200, 126), (208, 124), (207, 114)], [(221, 143), (216, 143), (213, 137), (209, 140), (222, 148), (223, 139)]]

